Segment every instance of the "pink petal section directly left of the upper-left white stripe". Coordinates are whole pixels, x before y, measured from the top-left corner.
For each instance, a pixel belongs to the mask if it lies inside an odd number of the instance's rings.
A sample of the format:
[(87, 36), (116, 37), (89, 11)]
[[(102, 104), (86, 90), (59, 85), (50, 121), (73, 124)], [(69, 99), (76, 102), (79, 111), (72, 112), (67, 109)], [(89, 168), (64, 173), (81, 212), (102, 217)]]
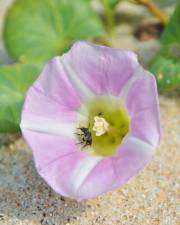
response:
[(70, 110), (77, 110), (80, 107), (79, 96), (64, 71), (60, 57), (55, 57), (45, 65), (33, 86)]

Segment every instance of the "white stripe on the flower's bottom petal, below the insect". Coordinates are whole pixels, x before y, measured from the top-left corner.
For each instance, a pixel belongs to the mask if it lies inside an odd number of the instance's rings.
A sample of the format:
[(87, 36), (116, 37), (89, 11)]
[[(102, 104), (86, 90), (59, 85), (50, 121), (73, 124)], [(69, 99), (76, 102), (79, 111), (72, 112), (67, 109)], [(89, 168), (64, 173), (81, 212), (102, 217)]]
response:
[(76, 167), (72, 175), (72, 193), (76, 196), (79, 188), (88, 177), (95, 166), (103, 159), (103, 157), (87, 156)]

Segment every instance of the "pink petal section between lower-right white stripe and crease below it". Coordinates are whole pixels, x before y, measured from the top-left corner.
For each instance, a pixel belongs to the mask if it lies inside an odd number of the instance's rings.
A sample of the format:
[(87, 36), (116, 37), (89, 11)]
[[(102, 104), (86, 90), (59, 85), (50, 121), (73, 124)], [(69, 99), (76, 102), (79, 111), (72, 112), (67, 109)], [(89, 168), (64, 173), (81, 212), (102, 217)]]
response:
[(133, 136), (127, 137), (119, 148), (118, 157), (113, 158), (117, 177), (112, 189), (123, 185), (136, 175), (151, 161), (153, 153), (152, 145)]

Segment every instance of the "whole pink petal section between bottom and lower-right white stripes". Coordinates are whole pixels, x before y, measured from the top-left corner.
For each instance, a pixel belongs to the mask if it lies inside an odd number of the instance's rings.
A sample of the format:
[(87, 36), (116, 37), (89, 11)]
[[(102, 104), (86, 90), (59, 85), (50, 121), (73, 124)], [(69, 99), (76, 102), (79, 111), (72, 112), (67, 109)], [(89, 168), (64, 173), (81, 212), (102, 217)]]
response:
[(153, 146), (135, 137), (127, 137), (117, 156), (102, 159), (91, 170), (76, 198), (94, 198), (120, 187), (152, 159), (153, 153)]

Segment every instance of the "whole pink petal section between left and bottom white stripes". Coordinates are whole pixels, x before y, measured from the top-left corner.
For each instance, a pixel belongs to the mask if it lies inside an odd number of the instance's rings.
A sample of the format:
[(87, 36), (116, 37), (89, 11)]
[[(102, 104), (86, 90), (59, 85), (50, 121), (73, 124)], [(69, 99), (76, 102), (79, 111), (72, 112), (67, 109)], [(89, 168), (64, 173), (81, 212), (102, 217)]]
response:
[(59, 194), (72, 198), (67, 187), (69, 176), (76, 164), (76, 154), (79, 154), (78, 160), (84, 156), (77, 150), (74, 140), (26, 129), (23, 134), (32, 149), (38, 173)]

